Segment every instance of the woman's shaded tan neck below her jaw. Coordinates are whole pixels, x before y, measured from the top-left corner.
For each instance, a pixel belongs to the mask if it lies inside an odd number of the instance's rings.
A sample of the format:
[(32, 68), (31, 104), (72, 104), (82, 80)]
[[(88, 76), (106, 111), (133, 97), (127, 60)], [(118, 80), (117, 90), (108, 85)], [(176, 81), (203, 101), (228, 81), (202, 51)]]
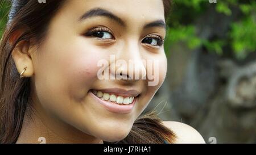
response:
[(101, 139), (90, 136), (72, 125), (46, 114), (40, 106), (35, 108), (33, 112), (26, 111), (16, 143), (103, 143)]

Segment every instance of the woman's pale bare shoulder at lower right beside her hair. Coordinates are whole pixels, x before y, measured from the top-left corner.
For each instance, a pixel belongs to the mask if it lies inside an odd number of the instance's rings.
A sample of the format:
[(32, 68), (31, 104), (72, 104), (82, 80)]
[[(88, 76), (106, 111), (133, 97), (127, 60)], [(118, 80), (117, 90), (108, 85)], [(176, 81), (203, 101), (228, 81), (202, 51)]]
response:
[(175, 133), (176, 143), (205, 143), (200, 133), (187, 124), (173, 121), (163, 121), (163, 124)]

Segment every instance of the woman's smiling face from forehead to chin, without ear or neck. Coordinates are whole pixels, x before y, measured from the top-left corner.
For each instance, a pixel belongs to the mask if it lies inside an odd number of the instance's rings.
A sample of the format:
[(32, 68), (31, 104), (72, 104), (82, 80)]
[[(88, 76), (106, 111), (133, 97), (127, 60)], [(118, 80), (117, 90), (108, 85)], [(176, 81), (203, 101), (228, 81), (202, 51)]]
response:
[[(162, 0), (65, 2), (32, 55), (35, 107), (88, 135), (122, 140), (164, 81), (165, 33)], [(113, 65), (111, 56), (133, 61), (134, 73), (158, 72), (157, 85), (149, 86), (148, 79), (99, 79), (98, 62)], [(158, 60), (159, 68), (143, 60)], [(132, 74), (120, 66), (109, 72), (118, 69)]]

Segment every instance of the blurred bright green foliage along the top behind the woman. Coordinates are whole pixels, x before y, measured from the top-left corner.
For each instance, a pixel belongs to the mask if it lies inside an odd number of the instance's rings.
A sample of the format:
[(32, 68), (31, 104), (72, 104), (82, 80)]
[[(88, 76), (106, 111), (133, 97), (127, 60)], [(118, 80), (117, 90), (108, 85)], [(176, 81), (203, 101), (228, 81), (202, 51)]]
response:
[[(170, 46), (183, 41), (191, 49), (204, 46), (209, 52), (222, 55), (224, 47), (228, 47), (237, 59), (242, 59), (256, 50), (256, 2), (238, 0), (173, 0), (172, 12), (167, 20), (168, 32), (164, 48), (169, 55)], [(241, 11), (241, 16), (232, 20), (225, 37), (214, 40), (202, 39), (197, 35), (195, 22), (210, 7), (214, 7), (216, 14), (232, 15), (232, 9)], [(10, 5), (7, 1), (0, 2), (0, 37), (7, 22), (7, 12)], [(211, 18), (211, 17), (209, 17)], [(201, 21), (204, 22), (204, 21)], [(216, 23), (218, 24), (218, 23)], [(214, 28), (214, 26), (212, 26)]]

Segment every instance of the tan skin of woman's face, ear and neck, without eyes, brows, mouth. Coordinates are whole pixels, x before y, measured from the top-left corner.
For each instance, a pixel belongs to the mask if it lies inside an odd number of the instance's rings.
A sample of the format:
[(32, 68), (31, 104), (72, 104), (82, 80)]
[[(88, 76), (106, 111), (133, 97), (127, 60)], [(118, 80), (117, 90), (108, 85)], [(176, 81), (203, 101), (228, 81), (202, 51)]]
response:
[[(86, 11), (98, 7), (117, 15), (126, 27), (105, 16), (79, 20)], [(31, 78), (31, 103), (34, 108), (32, 120), (27, 116), (24, 118), (17, 143), (39, 143), (39, 137), (45, 137), (46, 143), (102, 143), (103, 140), (124, 139), (166, 77), (167, 60), (163, 45), (156, 47), (142, 43), (148, 36), (165, 37), (163, 27), (143, 29), (145, 24), (159, 19), (164, 21), (162, 0), (65, 2), (51, 19), (46, 39), (40, 45), (22, 41), (12, 53), (19, 73), (27, 66), (23, 75)], [(84, 35), (99, 26), (110, 30), (114, 39), (102, 40)], [(102, 59), (110, 61), (110, 55), (136, 63), (159, 60), (158, 85), (148, 86), (147, 79), (98, 79), (100, 67), (97, 62)], [(148, 72), (145, 65), (135, 66), (135, 69), (134, 72)], [(125, 68), (121, 70), (127, 71)], [(128, 114), (110, 112), (89, 95), (91, 89), (113, 87), (139, 91), (133, 111)], [(169, 122), (166, 125), (171, 128), (173, 124)], [(201, 139), (200, 134), (195, 137)]]

